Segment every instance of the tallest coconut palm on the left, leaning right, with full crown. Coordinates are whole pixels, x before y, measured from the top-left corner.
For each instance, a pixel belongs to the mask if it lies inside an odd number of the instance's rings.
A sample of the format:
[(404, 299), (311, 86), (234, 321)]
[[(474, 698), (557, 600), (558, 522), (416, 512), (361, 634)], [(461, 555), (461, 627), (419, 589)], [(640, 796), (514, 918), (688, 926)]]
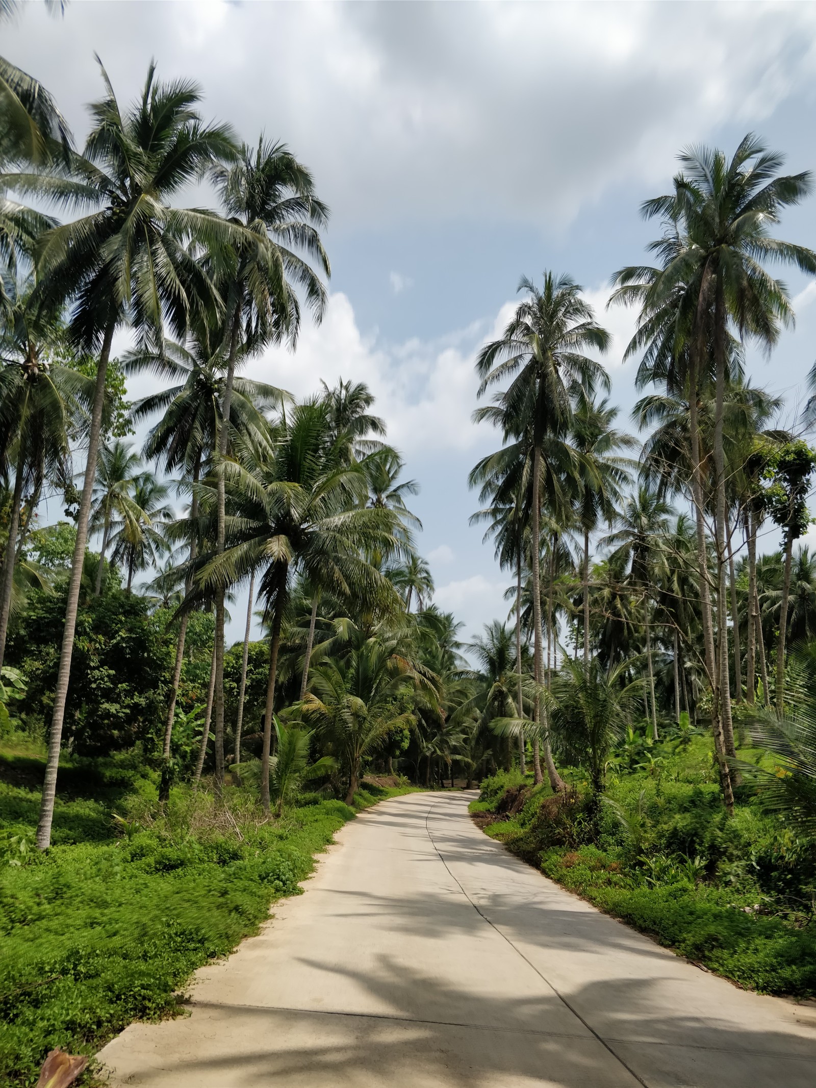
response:
[(235, 232), (218, 217), (171, 206), (178, 190), (222, 157), (234, 154), (232, 133), (205, 125), (197, 112), (198, 88), (187, 82), (161, 84), (150, 65), (141, 97), (123, 111), (107, 73), (106, 96), (90, 107), (91, 129), (71, 174), (7, 175), (10, 188), (72, 200), (91, 211), (40, 236), (36, 247), (38, 298), (45, 311), (70, 307), (69, 333), (98, 353), (88, 433), (85, 480), (77, 516), (76, 548), (69, 581), (65, 628), (54, 691), (49, 754), (37, 844), (51, 841), (57, 767), (62, 740), (71, 657), (96, 478), (106, 372), (113, 334), (131, 324), (157, 335), (168, 323), (183, 335), (190, 320), (221, 306), (218, 293), (185, 240), (225, 245)]

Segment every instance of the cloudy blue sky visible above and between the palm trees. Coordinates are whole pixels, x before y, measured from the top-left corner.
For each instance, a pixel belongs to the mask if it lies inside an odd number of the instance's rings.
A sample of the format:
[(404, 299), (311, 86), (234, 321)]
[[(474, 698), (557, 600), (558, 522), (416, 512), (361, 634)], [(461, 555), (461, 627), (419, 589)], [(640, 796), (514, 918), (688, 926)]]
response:
[[(24, 4), (0, 48), (79, 139), (102, 89), (95, 53), (122, 101), (153, 59), (160, 78), (200, 84), (207, 119), (250, 144), (263, 132), (309, 166), (332, 211), (327, 310), (295, 354), (269, 349), (246, 372), (298, 396), (341, 375), (370, 385), (421, 487), (411, 506), (434, 599), (465, 638), (507, 613), (508, 576), (468, 523), (467, 475), (499, 445), (471, 422), (473, 360), (520, 276), (552, 269), (584, 286), (613, 334), (613, 398), (632, 430), (634, 314), (606, 302), (610, 275), (654, 236), (641, 201), (667, 191), (683, 147), (732, 151), (749, 131), (791, 172), (816, 168), (805, 3), (71, 0), (62, 17)], [(816, 249), (816, 195), (778, 234)], [(816, 283), (780, 274), (795, 329), (769, 358), (749, 350), (747, 370), (786, 397), (792, 424), (816, 359)]]

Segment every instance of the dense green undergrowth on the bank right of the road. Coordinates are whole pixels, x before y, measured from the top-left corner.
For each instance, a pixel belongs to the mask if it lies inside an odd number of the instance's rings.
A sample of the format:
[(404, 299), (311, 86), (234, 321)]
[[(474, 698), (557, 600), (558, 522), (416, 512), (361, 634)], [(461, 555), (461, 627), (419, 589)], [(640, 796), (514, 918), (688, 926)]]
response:
[[(558, 798), (502, 771), (483, 780), (471, 813), (546, 876), (692, 962), (746, 989), (815, 997), (813, 840), (746, 784), (729, 817), (706, 735), (632, 735), (628, 750), (602, 796), (579, 772)], [(772, 767), (761, 750), (739, 754)]]

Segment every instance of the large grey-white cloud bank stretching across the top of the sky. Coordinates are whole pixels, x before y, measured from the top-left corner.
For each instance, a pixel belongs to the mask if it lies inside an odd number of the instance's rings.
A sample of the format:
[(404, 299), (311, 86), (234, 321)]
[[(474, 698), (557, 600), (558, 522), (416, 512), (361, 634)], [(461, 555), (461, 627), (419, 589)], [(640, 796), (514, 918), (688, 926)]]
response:
[(610, 185), (663, 184), (678, 147), (724, 123), (762, 124), (814, 73), (811, 4), (24, 7), (3, 53), (77, 131), (101, 92), (94, 50), (123, 99), (154, 55), (246, 139), (286, 140), (351, 226), (558, 228)]

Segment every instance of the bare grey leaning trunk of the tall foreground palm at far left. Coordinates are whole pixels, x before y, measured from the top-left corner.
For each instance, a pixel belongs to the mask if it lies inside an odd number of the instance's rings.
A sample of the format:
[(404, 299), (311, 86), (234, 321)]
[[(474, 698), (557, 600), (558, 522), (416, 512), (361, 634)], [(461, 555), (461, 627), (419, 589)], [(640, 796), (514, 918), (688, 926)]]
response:
[(99, 353), (99, 364), (97, 366), (94, 407), (90, 413), (90, 429), (88, 432), (88, 457), (85, 463), (85, 481), (79, 500), (79, 512), (76, 519), (76, 543), (74, 544), (74, 555), (71, 560), (71, 578), (69, 579), (67, 601), (65, 603), (65, 627), (62, 632), (62, 648), (60, 651), (60, 665), (57, 671), (51, 730), (48, 737), (48, 758), (46, 761), (42, 800), (40, 802), (39, 823), (37, 825), (37, 846), (40, 850), (48, 850), (51, 845), (51, 821), (53, 820), (53, 803), (57, 796), (57, 772), (60, 765), (62, 725), (65, 719), (65, 703), (67, 701), (69, 681), (71, 679), (71, 658), (74, 652), (74, 633), (76, 631), (76, 614), (79, 608), (79, 589), (82, 586), (83, 565), (85, 562), (85, 548), (88, 543), (90, 500), (97, 472), (99, 435), (102, 429), (104, 379), (108, 373), (108, 359), (111, 354), (114, 327), (115, 321), (110, 321), (104, 331), (102, 349)]

